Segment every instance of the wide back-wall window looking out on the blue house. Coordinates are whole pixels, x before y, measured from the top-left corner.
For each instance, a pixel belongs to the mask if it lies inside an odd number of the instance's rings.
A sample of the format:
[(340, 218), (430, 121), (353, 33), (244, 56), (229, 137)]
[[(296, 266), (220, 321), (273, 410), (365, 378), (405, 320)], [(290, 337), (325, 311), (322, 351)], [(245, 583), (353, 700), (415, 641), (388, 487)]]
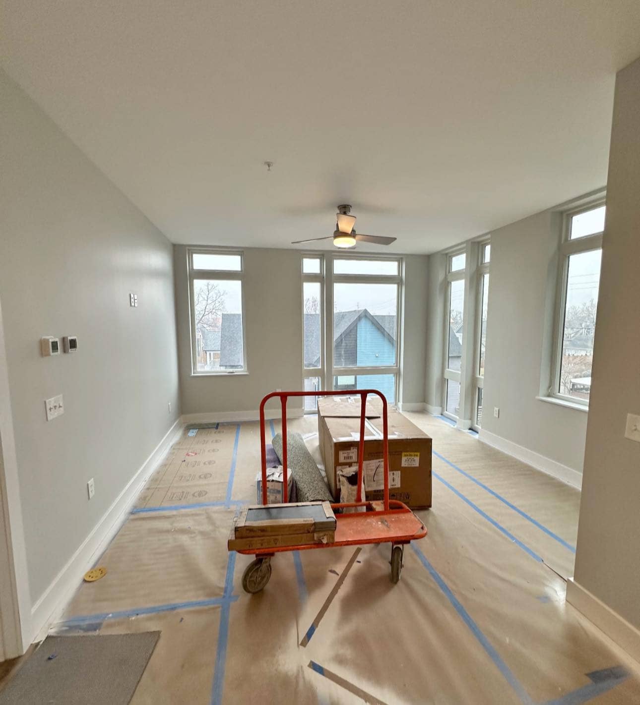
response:
[(333, 259), (334, 389), (374, 388), (397, 400), (399, 259)]

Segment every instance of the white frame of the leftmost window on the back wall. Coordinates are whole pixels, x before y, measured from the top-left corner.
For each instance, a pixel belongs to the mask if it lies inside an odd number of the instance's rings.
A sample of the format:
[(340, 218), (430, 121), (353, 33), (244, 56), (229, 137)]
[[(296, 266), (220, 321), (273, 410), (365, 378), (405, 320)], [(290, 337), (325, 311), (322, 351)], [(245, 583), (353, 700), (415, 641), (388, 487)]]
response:
[[(239, 255), (240, 270), (229, 269), (195, 269), (193, 267), (193, 255)], [(187, 268), (189, 286), (189, 326), (191, 338), (191, 376), (224, 376), (232, 374), (249, 374), (247, 363), (247, 340), (246, 340), (246, 315), (245, 315), (245, 292), (244, 292), (244, 252), (243, 250), (227, 250), (220, 247), (188, 247), (187, 248)], [(204, 280), (226, 280), (240, 282), (241, 314), (242, 314), (242, 369), (219, 369), (219, 370), (198, 370), (198, 345), (195, 331), (195, 294), (193, 282), (196, 279)]]

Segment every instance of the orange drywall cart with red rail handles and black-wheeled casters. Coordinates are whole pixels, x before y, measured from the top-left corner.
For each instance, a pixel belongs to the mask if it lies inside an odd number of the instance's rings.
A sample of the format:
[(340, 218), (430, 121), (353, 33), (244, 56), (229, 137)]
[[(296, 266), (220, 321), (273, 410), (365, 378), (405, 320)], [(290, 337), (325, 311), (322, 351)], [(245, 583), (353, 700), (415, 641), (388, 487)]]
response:
[[(304, 544), (301, 546), (278, 546), (277, 548), (251, 549), (238, 553), (253, 554), (255, 560), (244, 571), (242, 586), (247, 592), (262, 590), (271, 577), (271, 558), (282, 551), (307, 551), (310, 548), (334, 548), (336, 546), (358, 546), (362, 544), (391, 544), (391, 580), (398, 582), (402, 569), (404, 546), (422, 539), (427, 534), (423, 522), (406, 506), (406, 504), (389, 498), (389, 431), (387, 428), (387, 399), (377, 389), (354, 391), (361, 398), (360, 439), (358, 446), (358, 489), (356, 501), (352, 503), (332, 503), (336, 517), (335, 541), (327, 544)], [(369, 394), (382, 399), (382, 461), (384, 469), (384, 498), (380, 502), (367, 502), (362, 498), (362, 464), (364, 456), (364, 429), (366, 401)], [(302, 396), (344, 396), (344, 391), (309, 391), (309, 392), (272, 392), (260, 403), (260, 445), (262, 451), (262, 504), (267, 504), (267, 446), (265, 440), (265, 404), (274, 397), (279, 397), (282, 405), (282, 470), (284, 481), (284, 502), (287, 496), (286, 465), (286, 402), (291, 397)], [(338, 513), (344, 508), (364, 507), (365, 511)]]

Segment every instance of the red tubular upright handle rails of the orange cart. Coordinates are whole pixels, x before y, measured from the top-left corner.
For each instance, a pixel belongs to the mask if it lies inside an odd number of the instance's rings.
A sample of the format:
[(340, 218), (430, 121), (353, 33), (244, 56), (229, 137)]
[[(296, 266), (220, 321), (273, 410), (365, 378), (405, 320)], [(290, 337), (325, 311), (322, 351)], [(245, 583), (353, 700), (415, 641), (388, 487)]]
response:
[[(351, 391), (351, 390), (349, 390)], [(385, 476), (385, 511), (389, 510), (389, 429), (387, 420), (387, 398), (382, 392), (377, 389), (362, 389), (354, 390), (354, 393), (349, 396), (360, 395), (360, 441), (358, 444), (358, 489), (356, 492), (356, 502), (362, 501), (362, 463), (364, 457), (364, 422), (366, 415), (367, 397), (369, 394), (377, 394), (382, 399), (382, 467)], [(286, 467), (286, 402), (289, 397), (298, 396), (346, 396), (344, 391), (326, 391), (326, 392), (272, 392), (267, 394), (260, 402), (260, 450), (262, 457), (262, 504), (267, 504), (267, 441), (265, 438), (265, 404), (274, 397), (280, 398), (282, 407), (282, 472), (284, 479), (284, 501), (289, 501), (289, 477), (288, 468)]]

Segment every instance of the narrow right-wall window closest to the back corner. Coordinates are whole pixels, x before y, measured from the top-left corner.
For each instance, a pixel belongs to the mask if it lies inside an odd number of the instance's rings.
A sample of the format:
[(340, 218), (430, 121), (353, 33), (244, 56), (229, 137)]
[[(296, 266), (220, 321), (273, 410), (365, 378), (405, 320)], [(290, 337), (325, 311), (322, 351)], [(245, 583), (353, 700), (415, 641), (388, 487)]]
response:
[(447, 273), (447, 329), (445, 331), (444, 413), (457, 419), (460, 412), (460, 370), (464, 336), (464, 273), (466, 254), (449, 255)]

